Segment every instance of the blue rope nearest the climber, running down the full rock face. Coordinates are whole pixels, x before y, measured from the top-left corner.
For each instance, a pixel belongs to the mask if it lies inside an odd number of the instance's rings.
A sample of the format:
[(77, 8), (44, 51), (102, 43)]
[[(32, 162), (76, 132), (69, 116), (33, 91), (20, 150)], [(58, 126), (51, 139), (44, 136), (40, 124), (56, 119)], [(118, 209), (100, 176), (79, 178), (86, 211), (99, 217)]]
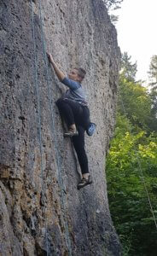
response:
[(64, 223), (65, 231), (66, 231), (66, 244), (67, 244), (67, 249), (68, 249), (68, 255), (72, 255), (71, 241), (70, 241), (70, 237), (69, 237), (68, 222), (67, 222), (67, 216), (66, 216), (66, 206), (65, 206), (65, 201), (64, 201), (64, 189), (63, 189), (63, 183), (62, 183), (62, 179), (61, 179), (61, 169), (62, 169), (61, 168), (61, 158), (60, 158), (60, 154), (59, 154), (58, 147), (57, 147), (56, 132), (55, 132), (55, 121), (54, 121), (55, 118), (54, 118), (52, 102), (51, 102), (52, 96), (50, 95), (50, 89), (49, 89), (49, 69), (48, 69), (48, 58), (47, 58), (47, 55), (46, 55), (46, 44), (45, 44), (45, 39), (44, 39), (41, 0), (39, 0), (39, 12), (40, 12), (40, 21), (41, 21), (44, 63), (45, 63), (46, 78), (47, 78), (47, 85), (48, 85), (48, 92), (49, 92), (49, 108), (50, 108), (51, 122), (52, 122), (51, 123), (52, 136), (54, 137), (54, 141), (55, 141), (56, 171), (57, 171), (59, 185), (60, 185), (60, 188), (61, 188), (61, 207), (63, 208), (63, 211), (64, 211), (63, 223)]

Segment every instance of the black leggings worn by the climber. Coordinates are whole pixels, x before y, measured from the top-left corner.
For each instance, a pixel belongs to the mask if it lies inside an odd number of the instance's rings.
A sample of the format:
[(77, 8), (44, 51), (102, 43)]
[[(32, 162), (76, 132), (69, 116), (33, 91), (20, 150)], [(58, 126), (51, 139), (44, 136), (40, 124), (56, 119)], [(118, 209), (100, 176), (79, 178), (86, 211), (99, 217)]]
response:
[(73, 146), (78, 155), (78, 162), (82, 174), (89, 172), (88, 159), (84, 149), (84, 131), (90, 123), (89, 108), (81, 106), (78, 102), (69, 99), (59, 99), (56, 105), (61, 116), (67, 122), (67, 125), (75, 124), (78, 130), (78, 136), (72, 137)]

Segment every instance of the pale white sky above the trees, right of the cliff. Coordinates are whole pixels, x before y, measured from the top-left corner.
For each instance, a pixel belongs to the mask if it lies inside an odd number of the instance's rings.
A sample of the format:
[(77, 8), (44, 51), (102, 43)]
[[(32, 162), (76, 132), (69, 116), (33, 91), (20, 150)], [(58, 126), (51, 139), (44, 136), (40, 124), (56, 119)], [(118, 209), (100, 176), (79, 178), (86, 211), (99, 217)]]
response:
[(121, 52), (137, 61), (137, 79), (148, 81), (152, 55), (157, 55), (157, 0), (124, 0), (115, 24)]

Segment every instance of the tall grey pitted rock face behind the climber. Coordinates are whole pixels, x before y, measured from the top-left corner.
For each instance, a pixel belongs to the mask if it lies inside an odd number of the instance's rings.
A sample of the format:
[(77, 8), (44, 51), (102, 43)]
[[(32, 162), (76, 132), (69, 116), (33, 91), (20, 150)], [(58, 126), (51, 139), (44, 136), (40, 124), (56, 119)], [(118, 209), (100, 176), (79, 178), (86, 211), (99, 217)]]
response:
[[(0, 1), (0, 254), (119, 255), (104, 159), (113, 135), (119, 48), (102, 0)], [(63, 139), (55, 100), (67, 72), (84, 67), (96, 134), (85, 137), (93, 184)]]

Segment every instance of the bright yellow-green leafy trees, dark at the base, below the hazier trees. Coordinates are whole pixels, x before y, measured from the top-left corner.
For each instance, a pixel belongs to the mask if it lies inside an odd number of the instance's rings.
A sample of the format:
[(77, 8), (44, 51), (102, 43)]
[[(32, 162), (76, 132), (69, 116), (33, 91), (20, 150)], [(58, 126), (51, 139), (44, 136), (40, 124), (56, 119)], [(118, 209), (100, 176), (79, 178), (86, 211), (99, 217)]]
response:
[(106, 166), (109, 207), (122, 245), (129, 251), (126, 255), (155, 256), (157, 232), (137, 155), (157, 218), (157, 139), (146, 137), (144, 131), (132, 134), (132, 129), (131, 122), (118, 114)]

